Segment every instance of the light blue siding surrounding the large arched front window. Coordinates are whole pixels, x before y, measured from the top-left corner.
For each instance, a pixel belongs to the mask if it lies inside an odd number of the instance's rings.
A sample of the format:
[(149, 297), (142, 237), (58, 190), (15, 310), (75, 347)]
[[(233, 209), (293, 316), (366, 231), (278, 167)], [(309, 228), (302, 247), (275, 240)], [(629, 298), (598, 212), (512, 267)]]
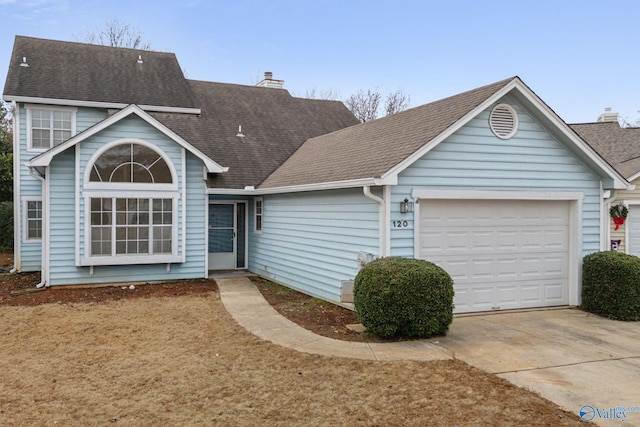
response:
[[(114, 140), (137, 138), (152, 142), (164, 151), (173, 162), (178, 182), (182, 190), (183, 172), (186, 174), (186, 194), (178, 200), (178, 254), (185, 255), (184, 263), (173, 263), (167, 272), (166, 264), (149, 265), (109, 265), (94, 267), (93, 275), (89, 267), (80, 267), (76, 260), (76, 245), (79, 245), (80, 257), (84, 247), (84, 197), (82, 196), (82, 178), (86, 162), (93, 153), (104, 144)], [(79, 150), (79, 172), (76, 170), (75, 150)], [(186, 153), (186, 165), (182, 164), (183, 149), (162, 133), (142, 120), (129, 117), (123, 119), (80, 143), (74, 149), (67, 150), (54, 158), (51, 164), (51, 215), (56, 225), (51, 226), (51, 265), (50, 285), (121, 283), (136, 281), (162, 281), (185, 278), (206, 277), (205, 271), (205, 230), (206, 195), (203, 180), (203, 164), (195, 156)], [(76, 177), (80, 178), (80, 197), (76, 199)], [(183, 204), (186, 214), (183, 218)], [(60, 218), (60, 220), (58, 220)], [(183, 236), (183, 221), (186, 221), (186, 234)], [(76, 227), (76, 223), (78, 227)]]

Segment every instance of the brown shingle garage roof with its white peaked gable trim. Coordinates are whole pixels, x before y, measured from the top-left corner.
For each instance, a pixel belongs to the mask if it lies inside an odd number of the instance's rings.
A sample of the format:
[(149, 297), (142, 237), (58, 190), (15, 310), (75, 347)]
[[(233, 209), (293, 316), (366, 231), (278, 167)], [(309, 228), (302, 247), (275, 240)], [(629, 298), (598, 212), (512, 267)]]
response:
[(306, 141), (260, 188), (341, 187), (362, 180), (393, 185), (400, 172), (507, 94), (534, 110), (574, 155), (609, 180), (607, 185), (626, 188), (624, 178), (518, 77)]

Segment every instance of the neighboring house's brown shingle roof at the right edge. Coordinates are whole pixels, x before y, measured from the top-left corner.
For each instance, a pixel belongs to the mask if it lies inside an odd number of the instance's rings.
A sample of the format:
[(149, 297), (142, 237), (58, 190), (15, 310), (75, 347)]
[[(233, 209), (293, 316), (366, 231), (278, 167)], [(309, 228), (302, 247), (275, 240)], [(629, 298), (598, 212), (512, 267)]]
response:
[(629, 178), (640, 172), (640, 128), (622, 128), (618, 122), (569, 126), (622, 176)]

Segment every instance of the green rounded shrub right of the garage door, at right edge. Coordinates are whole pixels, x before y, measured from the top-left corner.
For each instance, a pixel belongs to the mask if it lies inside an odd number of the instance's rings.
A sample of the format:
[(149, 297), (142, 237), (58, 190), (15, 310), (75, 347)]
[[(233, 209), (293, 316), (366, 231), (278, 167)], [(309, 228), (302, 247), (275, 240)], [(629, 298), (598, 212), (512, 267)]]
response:
[(615, 320), (640, 320), (640, 258), (597, 252), (582, 264), (582, 307)]

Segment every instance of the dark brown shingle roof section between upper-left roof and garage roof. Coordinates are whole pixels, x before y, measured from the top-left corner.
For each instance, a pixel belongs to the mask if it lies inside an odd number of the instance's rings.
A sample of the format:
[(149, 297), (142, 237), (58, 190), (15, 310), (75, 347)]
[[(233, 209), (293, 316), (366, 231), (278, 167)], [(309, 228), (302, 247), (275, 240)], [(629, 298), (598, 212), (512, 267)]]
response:
[[(358, 123), (339, 101), (292, 97), (282, 89), (189, 81), (199, 116), (152, 113), (229, 171), (209, 187), (258, 186), (305, 140)], [(245, 138), (236, 136), (242, 126)]]

